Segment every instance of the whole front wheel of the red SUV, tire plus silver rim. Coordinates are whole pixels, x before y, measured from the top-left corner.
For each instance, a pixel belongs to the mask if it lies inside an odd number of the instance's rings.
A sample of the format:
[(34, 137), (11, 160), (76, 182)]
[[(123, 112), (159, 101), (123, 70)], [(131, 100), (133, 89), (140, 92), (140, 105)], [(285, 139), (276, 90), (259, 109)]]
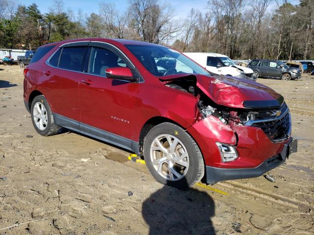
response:
[(144, 159), (153, 177), (164, 185), (187, 189), (204, 176), (204, 160), (198, 145), (181, 127), (170, 122), (158, 124), (148, 132)]

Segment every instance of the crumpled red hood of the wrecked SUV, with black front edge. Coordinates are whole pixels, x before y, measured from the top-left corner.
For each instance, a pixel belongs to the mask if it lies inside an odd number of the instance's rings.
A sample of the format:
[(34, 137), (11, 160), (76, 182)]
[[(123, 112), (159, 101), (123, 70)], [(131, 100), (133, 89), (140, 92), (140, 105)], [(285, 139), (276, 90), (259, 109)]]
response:
[(206, 76), (200, 74), (175, 74), (160, 80), (176, 80), (185, 76), (195, 76), (196, 85), (218, 105), (233, 108), (279, 108), (283, 96), (260, 83), (223, 75)]

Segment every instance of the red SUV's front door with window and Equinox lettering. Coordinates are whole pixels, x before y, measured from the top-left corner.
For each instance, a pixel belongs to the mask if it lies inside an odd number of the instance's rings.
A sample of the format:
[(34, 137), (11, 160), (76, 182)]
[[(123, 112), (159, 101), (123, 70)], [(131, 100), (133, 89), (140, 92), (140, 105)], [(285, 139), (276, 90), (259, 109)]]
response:
[(107, 132), (101, 134), (109, 135), (105, 139), (114, 134), (131, 140), (142, 84), (107, 78), (107, 68), (130, 68), (130, 62), (108, 45), (97, 47), (91, 43), (89, 48), (88, 66), (79, 84), (81, 129), (88, 132), (89, 126), (96, 127), (100, 130), (98, 134)]

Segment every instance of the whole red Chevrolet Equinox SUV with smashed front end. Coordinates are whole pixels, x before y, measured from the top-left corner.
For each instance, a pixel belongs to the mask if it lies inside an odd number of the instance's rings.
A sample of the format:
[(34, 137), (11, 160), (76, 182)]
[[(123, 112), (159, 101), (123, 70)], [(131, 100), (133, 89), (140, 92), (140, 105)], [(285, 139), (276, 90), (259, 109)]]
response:
[(162, 184), (257, 177), (296, 151), (284, 98), (212, 76), (160, 45), (100, 38), (39, 47), (24, 70), (36, 131), (60, 127), (131, 150)]

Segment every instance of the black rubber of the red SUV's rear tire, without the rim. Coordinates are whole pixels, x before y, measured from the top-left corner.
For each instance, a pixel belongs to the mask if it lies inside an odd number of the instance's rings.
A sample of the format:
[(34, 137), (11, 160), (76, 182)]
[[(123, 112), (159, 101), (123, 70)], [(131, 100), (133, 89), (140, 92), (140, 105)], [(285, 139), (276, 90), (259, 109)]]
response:
[[(37, 102), (40, 102), (46, 109), (46, 116), (47, 116), (48, 121), (47, 121), (46, 128), (44, 130), (40, 130), (35, 124), (34, 107), (35, 107), (35, 104)], [(54, 123), (52, 109), (51, 109), (50, 104), (48, 103), (48, 101), (44, 95), (37, 95), (33, 99), (32, 103), (31, 103), (31, 108), (30, 108), (30, 115), (31, 115), (31, 120), (32, 120), (32, 123), (33, 123), (35, 130), (42, 136), (55, 135), (58, 133), (59, 129), (61, 128)]]

